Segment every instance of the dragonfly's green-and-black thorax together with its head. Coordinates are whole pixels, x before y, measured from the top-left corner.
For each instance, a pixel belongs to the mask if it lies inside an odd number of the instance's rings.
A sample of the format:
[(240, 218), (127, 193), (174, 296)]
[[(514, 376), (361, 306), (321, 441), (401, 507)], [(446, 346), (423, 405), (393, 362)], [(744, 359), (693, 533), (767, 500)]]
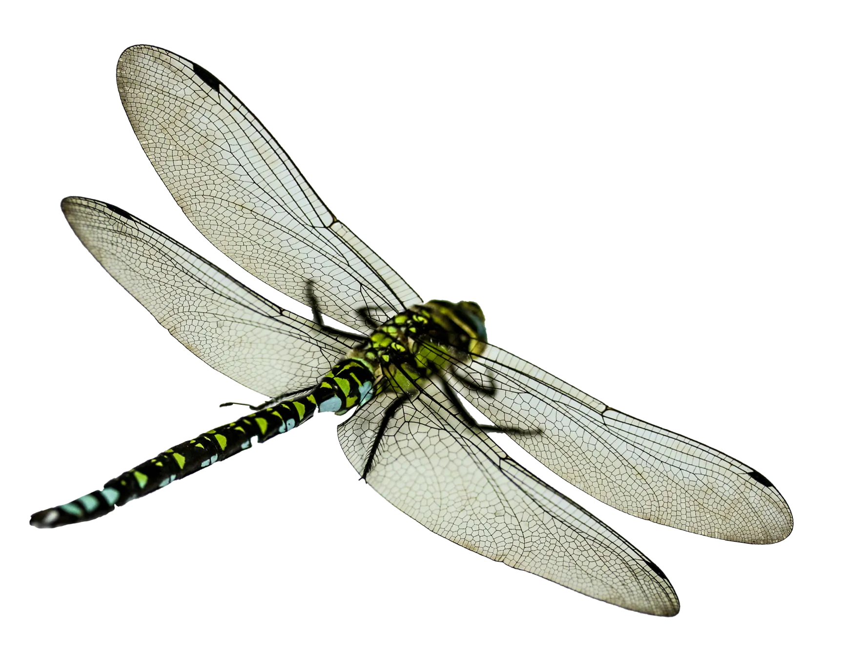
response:
[(476, 302), (428, 300), (396, 314), (352, 352), (384, 391), (413, 393), (429, 379), (486, 349), (486, 315)]

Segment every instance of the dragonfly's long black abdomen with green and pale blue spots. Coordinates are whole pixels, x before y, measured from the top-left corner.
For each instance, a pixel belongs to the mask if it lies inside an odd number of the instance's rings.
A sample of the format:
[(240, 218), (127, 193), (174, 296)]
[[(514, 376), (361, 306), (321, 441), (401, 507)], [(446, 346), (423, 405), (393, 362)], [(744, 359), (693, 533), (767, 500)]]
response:
[(347, 412), (373, 397), (373, 383), (374, 376), (367, 364), (355, 359), (341, 361), (319, 386), (176, 444), (99, 489), (32, 514), (29, 523), (40, 528), (56, 528), (108, 515), (138, 497), (287, 433), (314, 414)]

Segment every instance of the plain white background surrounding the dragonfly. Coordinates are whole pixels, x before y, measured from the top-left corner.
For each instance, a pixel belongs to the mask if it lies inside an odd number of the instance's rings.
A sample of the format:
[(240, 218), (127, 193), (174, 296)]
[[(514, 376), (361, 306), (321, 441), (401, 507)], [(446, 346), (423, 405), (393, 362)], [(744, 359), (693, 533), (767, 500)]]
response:
[[(0, 45), (5, 667), (824, 664), (839, 3), (22, 7)], [(59, 194), (99, 195), (201, 245), (112, 88), (143, 40), (231, 84), (423, 293), (481, 300), (494, 340), (771, 475), (792, 540), (715, 544), (603, 510), (684, 599), (673, 621), (636, 617), (432, 540), (354, 484), (330, 417), (99, 524), (24, 528), (248, 397), (57, 214)]]

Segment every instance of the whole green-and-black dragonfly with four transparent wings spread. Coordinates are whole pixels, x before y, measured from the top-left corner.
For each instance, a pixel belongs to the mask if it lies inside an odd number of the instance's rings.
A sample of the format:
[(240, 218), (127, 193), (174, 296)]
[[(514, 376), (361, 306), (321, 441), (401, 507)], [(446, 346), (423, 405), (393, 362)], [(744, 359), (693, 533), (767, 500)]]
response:
[(115, 82), (138, 145), (191, 225), (302, 309), (117, 205), (64, 197), (67, 225), (100, 269), (191, 354), (265, 400), (221, 403), (247, 411), (30, 513), (34, 529), (110, 516), (331, 413), (357, 481), (432, 534), (639, 614), (679, 614), (667, 574), (540, 466), (610, 508), (688, 534), (745, 545), (792, 534), (787, 498), (754, 466), (492, 343), (479, 303), (423, 298), (205, 66), (131, 45)]

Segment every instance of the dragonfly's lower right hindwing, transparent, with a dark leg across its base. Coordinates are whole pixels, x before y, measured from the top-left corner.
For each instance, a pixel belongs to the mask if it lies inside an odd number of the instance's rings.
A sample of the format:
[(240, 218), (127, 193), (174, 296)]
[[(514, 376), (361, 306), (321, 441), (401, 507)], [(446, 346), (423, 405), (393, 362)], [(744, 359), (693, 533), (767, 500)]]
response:
[[(379, 396), (337, 428), (357, 472), (393, 397)], [(368, 484), (424, 528), (492, 561), (647, 614), (679, 612), (679, 598), (641, 550), (470, 428), (437, 386), (400, 407)]]

